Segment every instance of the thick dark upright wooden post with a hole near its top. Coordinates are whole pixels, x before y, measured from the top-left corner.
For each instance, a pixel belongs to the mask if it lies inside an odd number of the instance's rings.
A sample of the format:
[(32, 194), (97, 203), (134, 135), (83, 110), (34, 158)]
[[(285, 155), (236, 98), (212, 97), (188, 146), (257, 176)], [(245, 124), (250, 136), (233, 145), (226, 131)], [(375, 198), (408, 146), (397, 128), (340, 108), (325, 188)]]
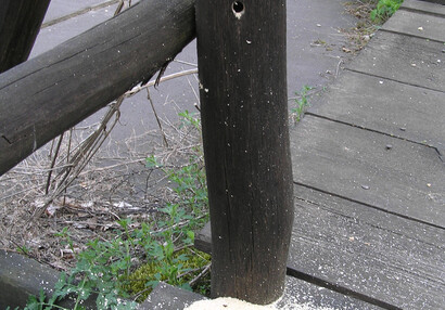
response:
[(285, 0), (198, 0), (212, 295), (283, 293), (293, 222)]

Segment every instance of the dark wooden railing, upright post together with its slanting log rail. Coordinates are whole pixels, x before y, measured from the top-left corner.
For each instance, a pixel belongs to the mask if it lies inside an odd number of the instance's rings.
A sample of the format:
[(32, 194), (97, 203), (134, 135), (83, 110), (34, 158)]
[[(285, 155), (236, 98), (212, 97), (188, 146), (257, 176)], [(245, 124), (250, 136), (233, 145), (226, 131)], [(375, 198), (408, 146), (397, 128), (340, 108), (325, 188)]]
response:
[(195, 34), (212, 294), (268, 303), (283, 293), (293, 221), (284, 0), (141, 1), (4, 72), (0, 175), (148, 81)]

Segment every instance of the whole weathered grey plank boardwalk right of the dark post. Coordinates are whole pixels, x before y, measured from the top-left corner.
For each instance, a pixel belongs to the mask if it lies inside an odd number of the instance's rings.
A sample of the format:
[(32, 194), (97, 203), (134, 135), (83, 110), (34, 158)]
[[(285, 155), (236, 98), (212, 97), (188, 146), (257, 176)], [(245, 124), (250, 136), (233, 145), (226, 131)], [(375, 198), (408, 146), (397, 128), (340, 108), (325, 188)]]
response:
[[(444, 42), (445, 7), (405, 0), (291, 130), (288, 281), (306, 286), (288, 296), (444, 309)], [(329, 289), (313, 295), (310, 283)]]

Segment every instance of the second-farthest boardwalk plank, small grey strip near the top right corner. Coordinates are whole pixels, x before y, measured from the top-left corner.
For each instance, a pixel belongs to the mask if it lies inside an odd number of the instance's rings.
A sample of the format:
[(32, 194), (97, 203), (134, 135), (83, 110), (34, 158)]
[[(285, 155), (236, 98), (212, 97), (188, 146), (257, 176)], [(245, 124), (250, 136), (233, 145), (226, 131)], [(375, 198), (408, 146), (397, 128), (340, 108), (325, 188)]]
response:
[(398, 10), (383, 24), (382, 29), (445, 42), (445, 16)]

